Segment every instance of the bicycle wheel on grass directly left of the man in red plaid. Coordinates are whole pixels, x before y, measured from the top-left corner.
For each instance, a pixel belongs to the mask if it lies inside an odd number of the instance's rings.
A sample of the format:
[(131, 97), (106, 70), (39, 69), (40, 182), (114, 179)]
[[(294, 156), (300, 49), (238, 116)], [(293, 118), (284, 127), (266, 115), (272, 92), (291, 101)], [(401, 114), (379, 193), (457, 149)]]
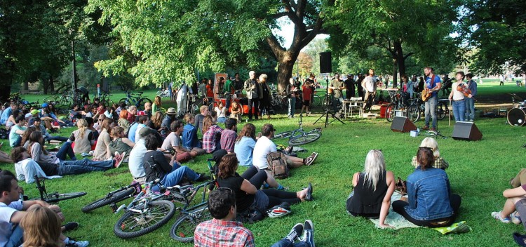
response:
[(211, 219), (212, 215), (210, 215), (210, 211), (208, 211), (208, 206), (197, 208), (175, 221), (172, 229), (170, 229), (170, 236), (172, 239), (182, 243), (194, 241), (194, 231), (197, 225), (205, 220)]

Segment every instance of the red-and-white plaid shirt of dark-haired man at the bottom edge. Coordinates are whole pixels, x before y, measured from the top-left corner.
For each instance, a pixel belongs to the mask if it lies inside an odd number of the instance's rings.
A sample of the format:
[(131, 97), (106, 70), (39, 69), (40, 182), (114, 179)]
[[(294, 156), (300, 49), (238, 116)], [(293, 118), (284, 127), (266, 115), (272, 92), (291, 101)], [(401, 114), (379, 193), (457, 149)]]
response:
[(254, 235), (241, 222), (208, 220), (201, 222), (194, 233), (196, 247), (252, 247)]

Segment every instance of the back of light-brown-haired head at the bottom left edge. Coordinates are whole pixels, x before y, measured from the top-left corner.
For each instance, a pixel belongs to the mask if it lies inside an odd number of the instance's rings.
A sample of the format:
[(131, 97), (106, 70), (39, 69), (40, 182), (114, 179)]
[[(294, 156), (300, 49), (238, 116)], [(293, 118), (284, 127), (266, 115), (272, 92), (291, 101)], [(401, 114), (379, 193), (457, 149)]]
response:
[(60, 218), (48, 207), (35, 204), (20, 221), (24, 229), (24, 247), (64, 246), (60, 240)]

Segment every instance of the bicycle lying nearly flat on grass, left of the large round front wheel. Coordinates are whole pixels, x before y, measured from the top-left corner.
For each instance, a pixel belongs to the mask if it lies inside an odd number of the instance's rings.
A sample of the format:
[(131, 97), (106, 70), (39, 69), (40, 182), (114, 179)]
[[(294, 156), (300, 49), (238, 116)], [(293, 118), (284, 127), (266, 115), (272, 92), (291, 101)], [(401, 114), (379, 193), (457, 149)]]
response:
[(88, 203), (88, 205), (83, 206), (83, 208), (81, 208), (81, 211), (83, 213), (88, 213), (102, 206), (110, 205), (110, 207), (115, 213), (117, 210), (115, 203), (118, 203), (119, 201), (124, 201), (132, 196), (139, 194), (141, 192), (141, 189), (142, 188), (139, 182), (133, 182), (131, 185), (116, 189), (106, 194), (106, 196), (104, 196), (103, 198)]

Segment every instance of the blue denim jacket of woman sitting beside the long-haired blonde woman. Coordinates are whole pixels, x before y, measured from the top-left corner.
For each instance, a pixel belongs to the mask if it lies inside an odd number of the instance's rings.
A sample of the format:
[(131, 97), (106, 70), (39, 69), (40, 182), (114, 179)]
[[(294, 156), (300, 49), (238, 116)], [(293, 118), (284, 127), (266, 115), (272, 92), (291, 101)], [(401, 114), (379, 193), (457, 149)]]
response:
[(450, 180), (444, 170), (420, 166), (407, 177), (409, 206), (405, 212), (415, 220), (437, 220), (453, 215), (450, 205)]

